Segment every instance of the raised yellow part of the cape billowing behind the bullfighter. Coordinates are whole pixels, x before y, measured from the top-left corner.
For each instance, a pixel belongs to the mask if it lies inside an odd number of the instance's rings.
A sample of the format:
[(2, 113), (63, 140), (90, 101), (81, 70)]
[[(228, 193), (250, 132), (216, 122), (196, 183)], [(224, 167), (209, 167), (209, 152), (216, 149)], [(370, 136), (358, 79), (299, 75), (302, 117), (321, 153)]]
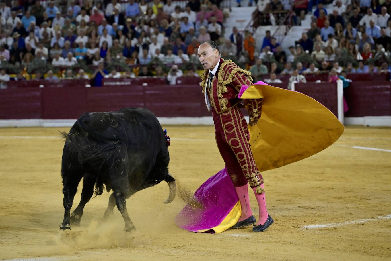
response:
[(258, 82), (239, 97), (263, 98), (260, 120), (249, 126), (250, 146), (259, 171), (310, 157), (333, 144), (344, 131), (330, 110), (300, 92)]

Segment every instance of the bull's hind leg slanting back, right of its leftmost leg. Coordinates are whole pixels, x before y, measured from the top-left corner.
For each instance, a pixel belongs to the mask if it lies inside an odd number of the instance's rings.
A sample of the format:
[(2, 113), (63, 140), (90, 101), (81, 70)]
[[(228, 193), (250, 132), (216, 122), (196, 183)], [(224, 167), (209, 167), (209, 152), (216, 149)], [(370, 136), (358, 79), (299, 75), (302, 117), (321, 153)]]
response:
[(70, 216), (72, 225), (80, 225), (81, 216), (83, 216), (83, 209), (87, 202), (90, 201), (93, 192), (94, 185), (97, 180), (97, 176), (86, 173), (83, 178), (83, 190), (81, 191), (80, 203)]

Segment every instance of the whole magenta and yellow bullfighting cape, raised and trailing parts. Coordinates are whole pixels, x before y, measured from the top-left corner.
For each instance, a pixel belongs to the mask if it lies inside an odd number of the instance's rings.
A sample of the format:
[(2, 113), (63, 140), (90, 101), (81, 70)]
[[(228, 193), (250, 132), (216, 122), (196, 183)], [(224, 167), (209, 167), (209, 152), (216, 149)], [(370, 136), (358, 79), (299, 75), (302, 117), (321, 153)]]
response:
[[(333, 144), (344, 131), (330, 110), (300, 92), (258, 81), (243, 85), (239, 98), (263, 98), (261, 117), (257, 124), (249, 126), (250, 148), (259, 171), (310, 157)], [(201, 185), (194, 197), (204, 208), (186, 206), (176, 218), (179, 227), (219, 233), (239, 220), (240, 201), (225, 169)]]

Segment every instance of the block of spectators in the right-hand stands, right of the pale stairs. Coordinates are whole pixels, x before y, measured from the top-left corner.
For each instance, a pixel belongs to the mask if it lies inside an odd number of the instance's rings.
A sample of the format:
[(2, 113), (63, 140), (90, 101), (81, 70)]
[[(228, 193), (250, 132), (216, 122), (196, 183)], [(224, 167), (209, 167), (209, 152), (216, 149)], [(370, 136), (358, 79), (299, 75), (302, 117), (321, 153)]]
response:
[[(279, 0), (262, 2), (264, 10), (284, 6)], [(258, 12), (262, 11), (259, 3)], [(266, 31), (258, 59), (250, 68), (256, 80), (278, 83), (274, 74), (288, 74), (290, 86), (292, 81), (305, 83), (307, 74), (329, 74), (329, 81), (334, 81), (343, 71), (391, 72), (391, 0), (295, 0), (292, 10), (297, 18), (294, 23), (310, 15), (311, 28), (296, 41), (285, 38), (292, 42), (287, 52)]]

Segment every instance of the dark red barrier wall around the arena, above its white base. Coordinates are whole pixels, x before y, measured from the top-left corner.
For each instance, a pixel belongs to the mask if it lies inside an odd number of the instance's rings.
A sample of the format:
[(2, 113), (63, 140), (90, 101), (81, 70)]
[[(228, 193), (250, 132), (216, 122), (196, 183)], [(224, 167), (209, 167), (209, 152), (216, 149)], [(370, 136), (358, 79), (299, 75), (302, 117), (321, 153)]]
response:
[[(389, 82), (353, 82), (346, 88), (346, 116), (391, 115)], [(297, 84), (337, 114), (336, 84)], [(330, 91), (331, 90), (331, 91)], [(160, 117), (210, 116), (199, 85), (17, 88), (0, 90), (0, 119), (76, 119), (83, 112), (145, 107)]]

